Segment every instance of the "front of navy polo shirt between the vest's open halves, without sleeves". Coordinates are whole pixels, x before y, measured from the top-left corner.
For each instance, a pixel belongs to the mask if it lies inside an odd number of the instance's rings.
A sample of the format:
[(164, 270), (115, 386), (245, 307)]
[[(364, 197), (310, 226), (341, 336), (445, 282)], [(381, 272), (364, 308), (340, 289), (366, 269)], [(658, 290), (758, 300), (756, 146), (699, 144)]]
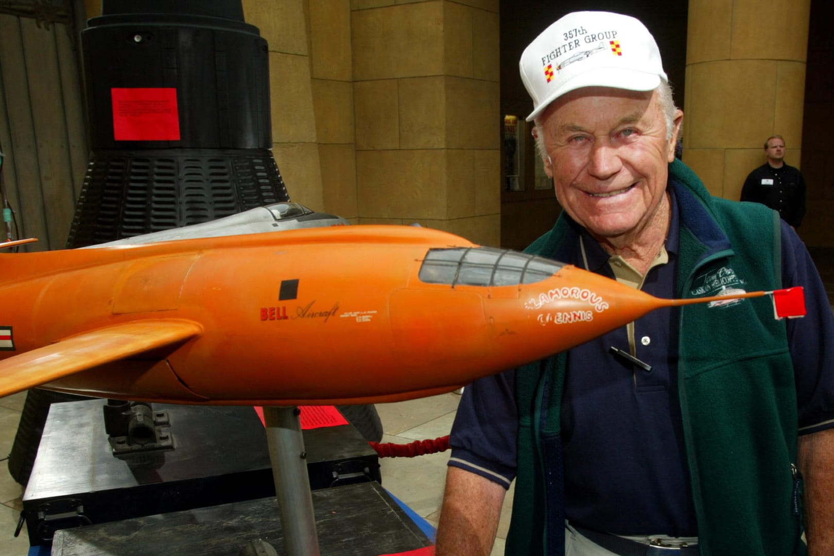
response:
[[(669, 262), (651, 268), (641, 287), (658, 298), (675, 297), (674, 199), (671, 208)], [(615, 278), (610, 255), (587, 232), (581, 237), (587, 269)], [(611, 353), (630, 352), (625, 327), (568, 352), (561, 424), (565, 516), (572, 523), (620, 534), (697, 535), (677, 396), (679, 311), (659, 309), (634, 323), (633, 355), (650, 371)]]

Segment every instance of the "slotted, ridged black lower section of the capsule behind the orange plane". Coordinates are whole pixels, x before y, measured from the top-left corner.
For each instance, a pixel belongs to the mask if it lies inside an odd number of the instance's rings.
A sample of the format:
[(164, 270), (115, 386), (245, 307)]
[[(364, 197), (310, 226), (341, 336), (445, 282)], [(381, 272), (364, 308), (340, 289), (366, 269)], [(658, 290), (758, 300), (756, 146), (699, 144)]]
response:
[(208, 222), (282, 201), (289, 195), (266, 149), (93, 153), (68, 247)]

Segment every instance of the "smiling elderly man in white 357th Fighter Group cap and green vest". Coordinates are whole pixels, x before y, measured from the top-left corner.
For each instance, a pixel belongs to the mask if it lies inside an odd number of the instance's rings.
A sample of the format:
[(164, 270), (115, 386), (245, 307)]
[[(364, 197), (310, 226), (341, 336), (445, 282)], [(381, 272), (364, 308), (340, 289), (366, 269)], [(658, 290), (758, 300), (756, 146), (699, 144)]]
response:
[(801, 241), (675, 160), (683, 114), (636, 19), (570, 13), (520, 69), (564, 208), (528, 251), (666, 298), (802, 285), (808, 314), (656, 311), (476, 381), (436, 553), (489, 554), (513, 480), (511, 556), (804, 554), (803, 511), (811, 553), (834, 553), (834, 318)]

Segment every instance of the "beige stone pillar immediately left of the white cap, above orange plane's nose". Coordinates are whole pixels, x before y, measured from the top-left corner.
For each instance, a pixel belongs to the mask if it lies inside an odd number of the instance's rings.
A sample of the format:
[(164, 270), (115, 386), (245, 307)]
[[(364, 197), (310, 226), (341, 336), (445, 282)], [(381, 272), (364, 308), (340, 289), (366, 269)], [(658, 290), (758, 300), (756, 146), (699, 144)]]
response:
[(359, 223), (500, 243), (498, 0), (352, 0)]

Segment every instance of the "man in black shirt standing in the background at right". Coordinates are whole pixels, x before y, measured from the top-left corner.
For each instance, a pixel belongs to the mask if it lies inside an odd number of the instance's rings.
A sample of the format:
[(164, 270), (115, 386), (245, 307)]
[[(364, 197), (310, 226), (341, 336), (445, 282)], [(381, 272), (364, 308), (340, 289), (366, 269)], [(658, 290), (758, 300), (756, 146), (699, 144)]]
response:
[(741, 189), (741, 200), (762, 203), (779, 211), (786, 223), (799, 228), (805, 216), (805, 179), (784, 162), (785, 140), (772, 135), (765, 141), (767, 162), (753, 170)]

